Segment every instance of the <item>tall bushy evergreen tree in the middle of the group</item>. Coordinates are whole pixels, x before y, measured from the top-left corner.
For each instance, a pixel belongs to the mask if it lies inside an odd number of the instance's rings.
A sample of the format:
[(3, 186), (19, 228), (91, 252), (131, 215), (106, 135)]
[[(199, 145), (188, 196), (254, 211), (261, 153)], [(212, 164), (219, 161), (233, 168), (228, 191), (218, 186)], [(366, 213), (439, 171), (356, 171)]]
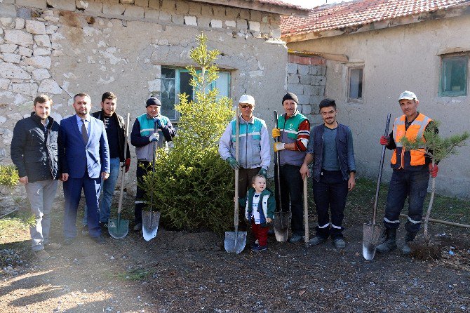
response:
[[(174, 147), (156, 152), (155, 173), (145, 178), (151, 190), (153, 208), (161, 212), (163, 225), (173, 229), (208, 229), (222, 232), (233, 225), (233, 172), (218, 154), (218, 142), (234, 112), (229, 98), (217, 98), (217, 89), (208, 91), (217, 79), (213, 61), (218, 51), (208, 51), (206, 36), (198, 36), (199, 46), (191, 58), (198, 65), (187, 67), (196, 90), (195, 100), (179, 95), (176, 109), (181, 118)], [(148, 197), (147, 201), (150, 200)]]

